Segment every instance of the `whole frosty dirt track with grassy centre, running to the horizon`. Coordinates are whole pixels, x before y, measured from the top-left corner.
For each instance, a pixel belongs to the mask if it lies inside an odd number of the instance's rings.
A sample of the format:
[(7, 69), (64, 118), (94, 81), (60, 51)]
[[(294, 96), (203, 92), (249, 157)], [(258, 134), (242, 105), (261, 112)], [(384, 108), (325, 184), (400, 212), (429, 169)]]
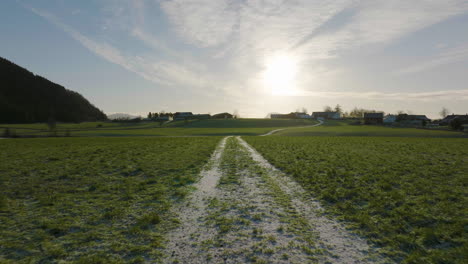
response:
[(384, 263), (240, 137), (224, 138), (174, 209), (164, 263)]

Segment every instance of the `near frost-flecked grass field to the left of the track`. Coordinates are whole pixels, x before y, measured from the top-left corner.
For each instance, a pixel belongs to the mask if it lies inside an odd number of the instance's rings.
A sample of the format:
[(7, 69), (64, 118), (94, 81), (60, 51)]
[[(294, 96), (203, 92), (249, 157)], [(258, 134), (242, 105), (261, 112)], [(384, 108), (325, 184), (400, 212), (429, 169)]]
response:
[(0, 262), (137, 263), (160, 258), (168, 210), (219, 138), (0, 142)]

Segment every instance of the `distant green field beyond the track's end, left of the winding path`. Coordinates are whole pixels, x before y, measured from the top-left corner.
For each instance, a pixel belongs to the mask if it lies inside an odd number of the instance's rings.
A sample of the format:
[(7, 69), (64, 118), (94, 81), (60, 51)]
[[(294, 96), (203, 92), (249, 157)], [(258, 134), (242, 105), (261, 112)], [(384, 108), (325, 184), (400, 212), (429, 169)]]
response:
[[(226, 136), (226, 135), (261, 135), (271, 130), (307, 126), (316, 124), (313, 120), (294, 119), (209, 119), (196, 121), (175, 121), (163, 124), (158, 122), (111, 123), (89, 122), (81, 124), (58, 124), (57, 135), (76, 137), (106, 136)], [(100, 126), (100, 127), (98, 127)], [(0, 133), (5, 128), (19, 136), (47, 136), (46, 124), (10, 124), (0, 125)]]

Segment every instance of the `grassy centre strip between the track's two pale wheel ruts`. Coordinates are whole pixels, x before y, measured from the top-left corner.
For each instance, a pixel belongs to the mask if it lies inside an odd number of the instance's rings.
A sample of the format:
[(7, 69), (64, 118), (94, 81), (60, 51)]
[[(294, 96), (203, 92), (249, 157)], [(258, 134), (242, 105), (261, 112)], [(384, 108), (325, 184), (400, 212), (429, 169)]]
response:
[(221, 168), (220, 192), (206, 218), (217, 233), (202, 242), (205, 263), (317, 262), (316, 235), (287, 202), (272, 199), (276, 190), (237, 138), (228, 141)]

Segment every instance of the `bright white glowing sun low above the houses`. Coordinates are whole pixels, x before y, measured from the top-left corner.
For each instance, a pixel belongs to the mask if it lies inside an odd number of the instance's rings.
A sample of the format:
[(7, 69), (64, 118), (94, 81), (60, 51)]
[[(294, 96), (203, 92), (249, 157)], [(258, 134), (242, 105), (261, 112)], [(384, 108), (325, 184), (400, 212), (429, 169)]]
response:
[(273, 95), (294, 93), (297, 74), (297, 60), (287, 54), (277, 54), (265, 63), (263, 85)]

